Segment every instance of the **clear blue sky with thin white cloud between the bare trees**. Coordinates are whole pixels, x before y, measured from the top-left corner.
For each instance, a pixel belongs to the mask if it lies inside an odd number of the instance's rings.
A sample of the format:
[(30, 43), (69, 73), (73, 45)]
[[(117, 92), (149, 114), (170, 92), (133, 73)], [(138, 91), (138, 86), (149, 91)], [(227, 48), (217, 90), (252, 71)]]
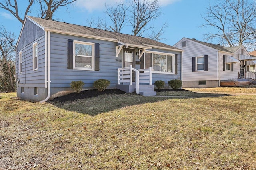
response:
[[(3, 1), (3, 0), (0, 0)], [(70, 24), (78, 24), (88, 26), (87, 20), (98, 17), (105, 18), (105, 3), (114, 4), (116, 0), (78, 0), (74, 3), (75, 6), (69, 6), (68, 13), (65, 7), (59, 8), (54, 13), (54, 19)], [(153, 26), (157, 29), (162, 24), (167, 22), (164, 35), (161, 42), (168, 45), (174, 45), (181, 38), (196, 38), (196, 40), (204, 40), (204, 34), (212, 32), (210, 28), (201, 28), (204, 24), (201, 17), (205, 12), (205, 8), (209, 6), (209, 0), (160, 0), (159, 1), (163, 14), (156, 20)], [(25, 10), (27, 0), (18, 0), (20, 9)], [(38, 17), (36, 6), (32, 6), (30, 16)], [(24, 12), (23, 12), (24, 14)], [(4, 25), (10, 32), (14, 32), (16, 38), (20, 34), (22, 24), (12, 16), (8, 11), (0, 8), (0, 23)], [(125, 34), (130, 34), (130, 28), (122, 31)], [(212, 42), (218, 43), (218, 42)]]

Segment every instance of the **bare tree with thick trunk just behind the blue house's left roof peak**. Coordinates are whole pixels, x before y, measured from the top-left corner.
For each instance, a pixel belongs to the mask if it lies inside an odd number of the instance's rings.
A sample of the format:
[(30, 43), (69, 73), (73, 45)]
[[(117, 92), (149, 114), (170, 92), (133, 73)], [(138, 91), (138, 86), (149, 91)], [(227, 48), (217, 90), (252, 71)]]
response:
[(53, 13), (61, 6), (66, 6), (68, 11), (68, 4), (72, 4), (77, 0), (36, 0), (40, 4), (40, 18), (52, 20)]

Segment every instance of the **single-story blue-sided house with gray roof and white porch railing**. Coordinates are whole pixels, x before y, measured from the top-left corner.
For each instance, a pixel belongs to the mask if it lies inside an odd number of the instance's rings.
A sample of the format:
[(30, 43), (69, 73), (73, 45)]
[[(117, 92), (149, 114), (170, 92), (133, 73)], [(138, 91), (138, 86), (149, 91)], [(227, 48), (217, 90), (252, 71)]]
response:
[(155, 95), (154, 81), (182, 78), (181, 58), (181, 49), (148, 38), (27, 16), (16, 45), (17, 97), (44, 102), (71, 81), (86, 90), (98, 79)]

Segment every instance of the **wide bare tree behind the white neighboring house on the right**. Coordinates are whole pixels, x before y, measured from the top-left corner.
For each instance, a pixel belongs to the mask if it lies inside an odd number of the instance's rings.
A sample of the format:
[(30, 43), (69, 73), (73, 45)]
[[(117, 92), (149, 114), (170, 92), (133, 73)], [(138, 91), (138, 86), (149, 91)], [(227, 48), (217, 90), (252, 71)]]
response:
[(209, 32), (206, 40), (218, 39), (222, 45), (230, 47), (245, 45), (255, 48), (256, 44), (256, 1), (218, 0), (206, 8), (202, 26), (215, 28)]

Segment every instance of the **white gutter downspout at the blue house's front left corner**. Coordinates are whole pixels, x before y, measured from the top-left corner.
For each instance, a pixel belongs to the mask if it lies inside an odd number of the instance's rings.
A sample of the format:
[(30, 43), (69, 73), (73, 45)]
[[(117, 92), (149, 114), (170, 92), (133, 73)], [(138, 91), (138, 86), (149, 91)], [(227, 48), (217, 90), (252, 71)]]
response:
[[(47, 31), (45, 32), (45, 34), (46, 34), (45, 36), (47, 36)], [(45, 47), (46, 47), (47, 46), (47, 41), (45, 41), (45, 43), (46, 43), (46, 45), (45, 45)], [(50, 81), (50, 31), (48, 31), (48, 47), (47, 47), (47, 49), (48, 49), (47, 55), (45, 53), (45, 57), (48, 56), (47, 97), (46, 97), (46, 99), (39, 101), (40, 103), (46, 102), (50, 98), (50, 82), (51, 82)]]

